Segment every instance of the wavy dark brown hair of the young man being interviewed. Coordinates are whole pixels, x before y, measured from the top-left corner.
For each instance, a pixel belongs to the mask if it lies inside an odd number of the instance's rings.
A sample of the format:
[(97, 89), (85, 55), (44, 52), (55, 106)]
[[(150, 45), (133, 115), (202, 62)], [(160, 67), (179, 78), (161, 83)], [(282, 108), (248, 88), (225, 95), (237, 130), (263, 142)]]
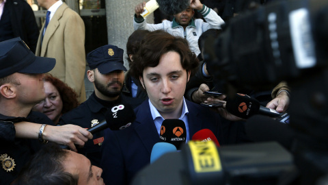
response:
[(147, 34), (141, 42), (139, 51), (133, 55), (130, 71), (131, 76), (137, 79), (135, 83), (141, 86), (139, 77), (142, 77), (143, 69), (157, 66), (161, 57), (169, 51), (179, 53), (182, 68), (187, 72), (191, 71), (191, 75), (195, 73), (199, 60), (189, 49), (188, 41), (163, 30), (156, 30)]

